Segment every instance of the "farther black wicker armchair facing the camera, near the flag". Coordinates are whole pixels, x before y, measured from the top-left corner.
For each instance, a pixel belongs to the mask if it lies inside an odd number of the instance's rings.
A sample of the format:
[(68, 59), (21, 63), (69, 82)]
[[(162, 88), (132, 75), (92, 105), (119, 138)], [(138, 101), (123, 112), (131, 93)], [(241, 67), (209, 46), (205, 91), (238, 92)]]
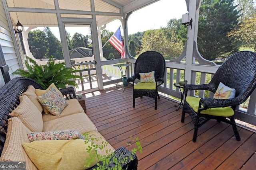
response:
[[(148, 96), (155, 100), (155, 109), (157, 109), (158, 87), (164, 83), (165, 60), (164, 57), (156, 51), (146, 51), (142, 53), (135, 62), (134, 75), (127, 79), (128, 84), (133, 86), (133, 105), (135, 107), (135, 98)], [(136, 79), (140, 80), (139, 73), (155, 71), (156, 88), (154, 90), (134, 90)]]

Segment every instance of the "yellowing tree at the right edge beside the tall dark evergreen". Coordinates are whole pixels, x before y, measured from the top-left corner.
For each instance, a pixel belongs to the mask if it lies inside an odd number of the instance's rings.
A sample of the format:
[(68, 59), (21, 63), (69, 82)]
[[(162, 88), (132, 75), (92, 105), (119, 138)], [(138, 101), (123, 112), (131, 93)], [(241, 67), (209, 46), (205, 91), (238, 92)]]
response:
[(250, 47), (256, 52), (256, 16), (245, 20), (238, 29), (232, 30), (228, 36), (234, 37), (242, 46)]

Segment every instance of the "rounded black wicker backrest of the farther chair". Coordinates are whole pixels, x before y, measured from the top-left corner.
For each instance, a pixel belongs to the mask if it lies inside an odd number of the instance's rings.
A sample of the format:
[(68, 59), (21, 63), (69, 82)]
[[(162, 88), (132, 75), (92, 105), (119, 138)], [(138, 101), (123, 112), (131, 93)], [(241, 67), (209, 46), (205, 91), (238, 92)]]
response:
[(134, 66), (134, 75), (140, 80), (139, 73), (155, 71), (155, 79), (164, 77), (165, 60), (156, 51), (146, 51), (139, 55)]

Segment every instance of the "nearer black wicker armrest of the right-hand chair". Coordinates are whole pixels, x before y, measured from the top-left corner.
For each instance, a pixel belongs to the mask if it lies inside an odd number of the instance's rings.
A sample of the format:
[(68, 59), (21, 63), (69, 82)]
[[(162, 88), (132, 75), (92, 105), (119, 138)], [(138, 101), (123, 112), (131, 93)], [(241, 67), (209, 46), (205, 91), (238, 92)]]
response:
[(239, 104), (241, 104), (241, 102), (238, 97), (232, 99), (202, 98), (199, 101), (199, 108), (202, 107), (202, 110), (205, 110), (216, 107), (237, 106)]

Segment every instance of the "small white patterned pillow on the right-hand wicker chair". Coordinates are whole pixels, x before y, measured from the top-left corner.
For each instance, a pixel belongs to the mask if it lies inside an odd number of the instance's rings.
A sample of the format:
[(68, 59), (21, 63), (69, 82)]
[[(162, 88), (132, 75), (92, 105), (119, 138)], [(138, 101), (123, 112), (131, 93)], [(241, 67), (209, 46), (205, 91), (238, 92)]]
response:
[(236, 89), (225, 86), (220, 82), (213, 98), (214, 99), (232, 99), (236, 95)]

